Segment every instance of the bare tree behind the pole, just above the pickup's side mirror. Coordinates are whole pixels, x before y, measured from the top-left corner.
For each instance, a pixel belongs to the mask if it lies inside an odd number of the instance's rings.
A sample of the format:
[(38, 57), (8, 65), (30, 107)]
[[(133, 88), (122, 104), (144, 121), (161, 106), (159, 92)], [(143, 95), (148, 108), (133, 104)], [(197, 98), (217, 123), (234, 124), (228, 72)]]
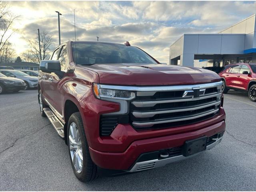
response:
[[(22, 54), (24, 60), (28, 62), (40, 63), (40, 52), (38, 35), (29, 41), (30, 48)], [(42, 60), (50, 58), (50, 47), (52, 45), (52, 36), (48, 35), (47, 32), (40, 33), (40, 45), (41, 45), (41, 56)]]

